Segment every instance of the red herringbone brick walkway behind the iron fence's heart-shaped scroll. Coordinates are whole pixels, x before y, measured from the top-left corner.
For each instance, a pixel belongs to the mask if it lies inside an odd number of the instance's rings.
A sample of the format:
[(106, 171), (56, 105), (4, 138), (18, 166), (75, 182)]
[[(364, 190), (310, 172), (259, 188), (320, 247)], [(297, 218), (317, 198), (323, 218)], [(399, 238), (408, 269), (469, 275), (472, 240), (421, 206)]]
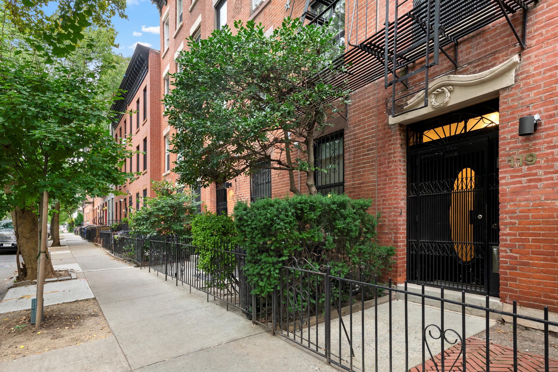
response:
[[(486, 371), (486, 341), (469, 337), (466, 339), (466, 370), (470, 372)], [(425, 372), (457, 372), (463, 371), (463, 355), (459, 355), (461, 343), (444, 351), (444, 371), (441, 370), (441, 354), (425, 363)], [(459, 358), (455, 362), (456, 358)], [(558, 372), (558, 360), (549, 360), (550, 372)], [(451, 369), (450, 369), (451, 368)], [(519, 372), (538, 372), (545, 370), (545, 358), (540, 355), (517, 352), (517, 370)], [(422, 364), (411, 368), (411, 372), (422, 372)], [(511, 372), (513, 371), (513, 349), (511, 347), (493, 344), (490, 342), (490, 371)]]

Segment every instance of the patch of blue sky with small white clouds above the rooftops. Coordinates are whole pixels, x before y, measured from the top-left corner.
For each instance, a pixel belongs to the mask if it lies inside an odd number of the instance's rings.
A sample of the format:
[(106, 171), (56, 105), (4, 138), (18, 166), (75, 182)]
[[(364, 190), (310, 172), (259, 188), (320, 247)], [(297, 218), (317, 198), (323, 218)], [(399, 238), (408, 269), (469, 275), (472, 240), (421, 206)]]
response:
[(126, 0), (126, 4), (128, 19), (114, 17), (112, 20), (118, 32), (118, 52), (129, 57), (138, 42), (153, 49), (160, 49), (159, 11), (155, 4), (150, 0)]

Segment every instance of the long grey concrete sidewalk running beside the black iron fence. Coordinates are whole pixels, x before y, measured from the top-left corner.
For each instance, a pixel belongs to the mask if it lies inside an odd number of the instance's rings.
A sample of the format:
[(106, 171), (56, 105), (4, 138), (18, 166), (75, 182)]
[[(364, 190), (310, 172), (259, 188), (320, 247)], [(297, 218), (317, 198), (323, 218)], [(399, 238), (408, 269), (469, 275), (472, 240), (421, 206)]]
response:
[[(240, 312), (187, 286), (132, 268), (64, 234), (114, 336), (0, 364), (0, 370), (174, 372), (335, 371)], [(68, 258), (69, 261), (69, 258)]]

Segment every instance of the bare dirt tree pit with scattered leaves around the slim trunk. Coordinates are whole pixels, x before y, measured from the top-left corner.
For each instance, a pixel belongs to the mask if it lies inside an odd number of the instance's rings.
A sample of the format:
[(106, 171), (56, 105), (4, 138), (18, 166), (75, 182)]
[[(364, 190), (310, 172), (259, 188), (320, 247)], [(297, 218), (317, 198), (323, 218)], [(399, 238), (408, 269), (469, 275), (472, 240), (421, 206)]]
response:
[(112, 335), (95, 299), (46, 306), (39, 329), (30, 324), (30, 315), (30, 310), (3, 314), (0, 362)]

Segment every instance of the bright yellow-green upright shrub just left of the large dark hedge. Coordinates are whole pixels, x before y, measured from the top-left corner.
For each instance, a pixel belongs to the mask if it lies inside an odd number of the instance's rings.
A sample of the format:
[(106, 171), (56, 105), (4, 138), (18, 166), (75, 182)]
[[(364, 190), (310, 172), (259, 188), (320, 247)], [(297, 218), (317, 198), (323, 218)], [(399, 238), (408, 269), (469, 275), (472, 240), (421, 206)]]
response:
[(232, 218), (209, 211), (198, 214), (192, 221), (191, 234), (192, 244), (198, 249), (198, 269), (206, 274), (206, 284), (225, 288), (236, 282), (235, 255), (216, 250), (235, 248), (237, 233)]

